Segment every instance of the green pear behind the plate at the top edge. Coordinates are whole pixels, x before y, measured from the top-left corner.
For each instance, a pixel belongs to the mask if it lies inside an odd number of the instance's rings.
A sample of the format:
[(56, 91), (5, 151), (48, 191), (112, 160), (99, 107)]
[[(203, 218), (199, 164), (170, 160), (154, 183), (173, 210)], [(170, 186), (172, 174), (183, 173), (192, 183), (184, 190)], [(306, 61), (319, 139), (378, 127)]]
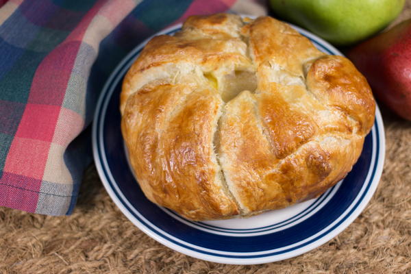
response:
[(405, 0), (270, 0), (279, 18), (346, 46), (384, 29)]

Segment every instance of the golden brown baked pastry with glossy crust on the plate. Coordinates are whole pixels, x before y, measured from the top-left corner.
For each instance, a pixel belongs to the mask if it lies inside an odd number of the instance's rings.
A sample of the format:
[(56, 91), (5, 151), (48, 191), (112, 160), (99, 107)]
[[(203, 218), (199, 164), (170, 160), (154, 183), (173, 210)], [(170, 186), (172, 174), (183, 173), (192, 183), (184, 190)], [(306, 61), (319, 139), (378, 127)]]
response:
[(374, 112), (349, 60), (271, 17), (192, 16), (147, 44), (121, 92), (140, 187), (192, 220), (321, 195), (358, 160)]

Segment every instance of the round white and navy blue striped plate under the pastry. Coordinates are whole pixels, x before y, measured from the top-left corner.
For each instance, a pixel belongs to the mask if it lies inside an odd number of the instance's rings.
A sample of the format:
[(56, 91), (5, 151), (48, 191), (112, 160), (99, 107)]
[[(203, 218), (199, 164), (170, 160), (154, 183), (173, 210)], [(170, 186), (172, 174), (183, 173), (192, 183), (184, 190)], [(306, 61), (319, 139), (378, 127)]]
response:
[[(181, 25), (159, 34), (173, 34)], [(341, 55), (324, 40), (295, 27), (316, 47)], [(384, 127), (377, 108), (360, 159), (347, 177), (321, 197), (247, 219), (193, 222), (145, 198), (132, 172), (121, 136), (121, 82), (148, 40), (117, 66), (105, 84), (95, 112), (92, 141), (97, 170), (114, 203), (143, 232), (188, 256), (227, 264), (284, 260), (323, 245), (364, 210), (382, 174)]]

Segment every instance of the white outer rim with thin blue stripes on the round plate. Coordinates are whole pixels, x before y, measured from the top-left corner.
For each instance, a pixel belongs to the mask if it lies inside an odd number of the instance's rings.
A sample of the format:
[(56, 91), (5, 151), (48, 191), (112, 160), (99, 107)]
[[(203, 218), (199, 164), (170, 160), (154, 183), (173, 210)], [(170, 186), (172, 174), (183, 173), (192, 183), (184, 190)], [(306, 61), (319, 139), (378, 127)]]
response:
[[(319, 43), (319, 45), (329, 49), (330, 51), (333, 51), (335, 53), (338, 53), (338, 55), (343, 55), (338, 51), (335, 47), (330, 45), (328, 42), (325, 40), (319, 38), (318, 36), (315, 36), (314, 34), (306, 31), (305, 29), (301, 29), (300, 27), (297, 27), (295, 25), (289, 24), (295, 29), (297, 29), (301, 34), (304, 34), (308, 38), (315, 40), (316, 42)], [(161, 32), (158, 32), (154, 34), (153, 36), (158, 36), (160, 34), (166, 34), (169, 32), (173, 32), (177, 29), (179, 29), (182, 26), (181, 23), (177, 25), (173, 25), (171, 27), (167, 27), (166, 29), (163, 29)], [(347, 219), (343, 221), (343, 223), (340, 223), (340, 225), (337, 225), (336, 228), (332, 229), (330, 232), (325, 234), (325, 236), (322, 236), (318, 240), (314, 240), (313, 242), (310, 242), (310, 244), (305, 245), (303, 247), (299, 247), (298, 249), (288, 251), (286, 253), (282, 254), (277, 254), (277, 255), (271, 255), (271, 256), (265, 256), (265, 257), (260, 257), (260, 258), (227, 258), (223, 256), (213, 256), (213, 255), (208, 255), (205, 253), (197, 252), (197, 251), (192, 251), (191, 249), (186, 249), (185, 247), (182, 247), (180, 245), (176, 245), (173, 242), (170, 242), (169, 240), (163, 238), (162, 236), (159, 236), (158, 234), (155, 234), (149, 227), (138, 221), (135, 216), (129, 211), (129, 209), (126, 208), (124, 205), (124, 201), (121, 201), (119, 199), (118, 195), (115, 193), (115, 191), (112, 189), (112, 186), (110, 186), (110, 182), (108, 182), (108, 176), (105, 175), (105, 171), (103, 170), (103, 165), (101, 162), (101, 159), (99, 157), (99, 142), (102, 142), (102, 140), (99, 139), (99, 132), (97, 132), (98, 125), (102, 121), (102, 118), (105, 118), (101, 115), (101, 111), (103, 110), (104, 112), (107, 111), (107, 106), (110, 101), (110, 99), (105, 100), (105, 97), (109, 91), (109, 87), (112, 84), (113, 80), (116, 79), (118, 73), (122, 70), (126, 71), (129, 69), (129, 66), (125, 65), (127, 63), (132, 63), (136, 59), (136, 57), (133, 58), (133, 55), (137, 52), (140, 51), (142, 47), (147, 44), (153, 36), (150, 36), (143, 42), (141, 42), (137, 47), (135, 47), (132, 51), (130, 51), (121, 62), (116, 66), (116, 69), (111, 73), (110, 77), (108, 77), (107, 81), (105, 82), (103, 89), (101, 91), (101, 94), (99, 95), (99, 100), (97, 101), (96, 109), (95, 109), (95, 115), (94, 115), (94, 123), (92, 124), (92, 151), (93, 151), (93, 156), (95, 159), (95, 165), (97, 168), (97, 172), (99, 173), (99, 177), (101, 179), (101, 182), (103, 183), (103, 186), (105, 187), (105, 190), (108, 192), (110, 198), (116, 206), (121, 210), (123, 214), (131, 221), (136, 227), (142, 230), (142, 232), (145, 232), (148, 236), (153, 238), (154, 240), (157, 240), (160, 242), (162, 245), (165, 245), (166, 247), (169, 247), (175, 251), (178, 251), (180, 253), (184, 253), (188, 256), (194, 257), (194, 258), (199, 258), (201, 260), (208, 260), (210, 262), (219, 262), (219, 263), (224, 263), (224, 264), (263, 264), (267, 262), (275, 262), (279, 260), (286, 260), (288, 258), (292, 258), (295, 256), (299, 256), (303, 253), (306, 253), (308, 251), (311, 251), (312, 249), (315, 249), (316, 247), (320, 247), (321, 245), (325, 244), (325, 242), (328, 242), (340, 232), (343, 232), (344, 229), (346, 229), (353, 221), (361, 214), (361, 212), (364, 210), (364, 208), (368, 205), (369, 201), (371, 200), (371, 197), (373, 197), (373, 194), (375, 190), (377, 189), (377, 186), (379, 184), (379, 180), (381, 179), (382, 175), (382, 169), (384, 166), (384, 160), (385, 160), (385, 134), (384, 134), (384, 125), (382, 122), (382, 116), (381, 113), (379, 112), (378, 105), (376, 105), (375, 108), (375, 123), (377, 124), (377, 127), (379, 127), (378, 132), (375, 134), (378, 134), (379, 138), (379, 149), (378, 153), (375, 155), (375, 176), (373, 177), (372, 182), (370, 182), (370, 187), (369, 190), (364, 193), (364, 198), (358, 205), (358, 207), (351, 213), (347, 214)], [(112, 92), (110, 93), (110, 98), (112, 96)], [(375, 125), (373, 125), (374, 129)], [(375, 141), (373, 140), (373, 144), (375, 144)], [(370, 167), (371, 169), (371, 167)], [(113, 180), (116, 185), (116, 181)], [(127, 199), (125, 199), (125, 202), (127, 203)], [(130, 205), (131, 206), (131, 205)], [(136, 210), (137, 211), (137, 210)], [(138, 212), (138, 211), (137, 211)], [(145, 219), (144, 216), (140, 214), (140, 217), (142, 219)], [(166, 233), (163, 231), (163, 233)], [(188, 242), (186, 242), (188, 243)], [(188, 243), (189, 244), (189, 243)]]

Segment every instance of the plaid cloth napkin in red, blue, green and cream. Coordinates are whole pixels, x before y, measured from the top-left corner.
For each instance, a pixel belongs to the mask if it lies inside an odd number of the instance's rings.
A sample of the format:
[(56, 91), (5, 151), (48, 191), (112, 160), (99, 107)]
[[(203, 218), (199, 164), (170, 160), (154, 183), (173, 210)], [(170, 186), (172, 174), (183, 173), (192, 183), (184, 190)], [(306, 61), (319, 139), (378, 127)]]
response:
[(91, 160), (105, 79), (160, 29), (193, 14), (262, 15), (246, 0), (0, 0), (0, 206), (71, 214)]

